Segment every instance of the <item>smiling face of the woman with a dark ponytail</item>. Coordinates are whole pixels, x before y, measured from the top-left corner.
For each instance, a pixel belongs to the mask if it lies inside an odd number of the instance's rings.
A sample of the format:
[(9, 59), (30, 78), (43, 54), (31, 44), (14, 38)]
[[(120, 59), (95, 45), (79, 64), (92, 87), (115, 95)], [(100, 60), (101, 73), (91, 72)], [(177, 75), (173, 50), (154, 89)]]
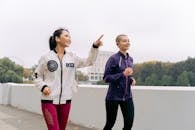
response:
[(69, 47), (71, 44), (71, 36), (68, 31), (63, 30), (59, 37), (56, 37), (56, 42), (61, 47)]

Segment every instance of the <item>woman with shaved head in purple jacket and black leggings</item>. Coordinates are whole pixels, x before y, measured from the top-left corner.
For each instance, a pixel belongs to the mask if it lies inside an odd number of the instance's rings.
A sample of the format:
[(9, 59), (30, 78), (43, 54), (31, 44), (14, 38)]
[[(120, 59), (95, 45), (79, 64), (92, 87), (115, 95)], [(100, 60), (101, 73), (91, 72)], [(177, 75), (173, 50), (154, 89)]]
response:
[(131, 85), (135, 84), (132, 78), (133, 58), (127, 50), (130, 47), (127, 35), (116, 37), (119, 52), (112, 55), (105, 67), (104, 81), (109, 83), (106, 95), (106, 125), (103, 130), (111, 130), (116, 121), (118, 106), (124, 118), (123, 130), (131, 130), (134, 120), (134, 104), (131, 93)]

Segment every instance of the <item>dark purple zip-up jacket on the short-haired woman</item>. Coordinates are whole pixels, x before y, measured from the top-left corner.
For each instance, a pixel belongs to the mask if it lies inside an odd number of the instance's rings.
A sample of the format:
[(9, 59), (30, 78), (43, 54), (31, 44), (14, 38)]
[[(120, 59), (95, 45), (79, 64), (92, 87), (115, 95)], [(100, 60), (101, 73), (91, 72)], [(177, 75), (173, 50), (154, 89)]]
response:
[(127, 67), (133, 67), (133, 58), (129, 54), (125, 57), (119, 51), (108, 59), (103, 77), (109, 83), (106, 100), (125, 101), (132, 98), (131, 76), (126, 77), (123, 74)]

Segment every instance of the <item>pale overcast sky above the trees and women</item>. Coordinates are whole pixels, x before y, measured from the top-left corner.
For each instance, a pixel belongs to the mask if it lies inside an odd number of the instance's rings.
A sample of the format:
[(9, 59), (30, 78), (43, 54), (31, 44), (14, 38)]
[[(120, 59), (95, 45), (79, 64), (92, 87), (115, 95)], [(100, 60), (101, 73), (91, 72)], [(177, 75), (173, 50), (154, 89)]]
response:
[(101, 34), (101, 50), (117, 51), (115, 37), (125, 33), (135, 63), (185, 60), (195, 57), (194, 7), (194, 0), (0, 0), (0, 58), (31, 67), (65, 27), (81, 57)]

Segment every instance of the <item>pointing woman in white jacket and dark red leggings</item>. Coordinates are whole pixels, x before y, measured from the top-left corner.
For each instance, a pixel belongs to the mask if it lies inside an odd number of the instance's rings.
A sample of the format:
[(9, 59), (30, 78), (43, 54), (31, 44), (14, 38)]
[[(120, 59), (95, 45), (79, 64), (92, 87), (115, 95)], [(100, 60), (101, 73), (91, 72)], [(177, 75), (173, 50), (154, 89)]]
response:
[(41, 107), (48, 130), (65, 130), (75, 84), (75, 68), (95, 62), (102, 37), (93, 43), (86, 59), (66, 51), (71, 44), (68, 30), (57, 29), (50, 37), (50, 51), (41, 57), (35, 70), (35, 86), (42, 92)]

